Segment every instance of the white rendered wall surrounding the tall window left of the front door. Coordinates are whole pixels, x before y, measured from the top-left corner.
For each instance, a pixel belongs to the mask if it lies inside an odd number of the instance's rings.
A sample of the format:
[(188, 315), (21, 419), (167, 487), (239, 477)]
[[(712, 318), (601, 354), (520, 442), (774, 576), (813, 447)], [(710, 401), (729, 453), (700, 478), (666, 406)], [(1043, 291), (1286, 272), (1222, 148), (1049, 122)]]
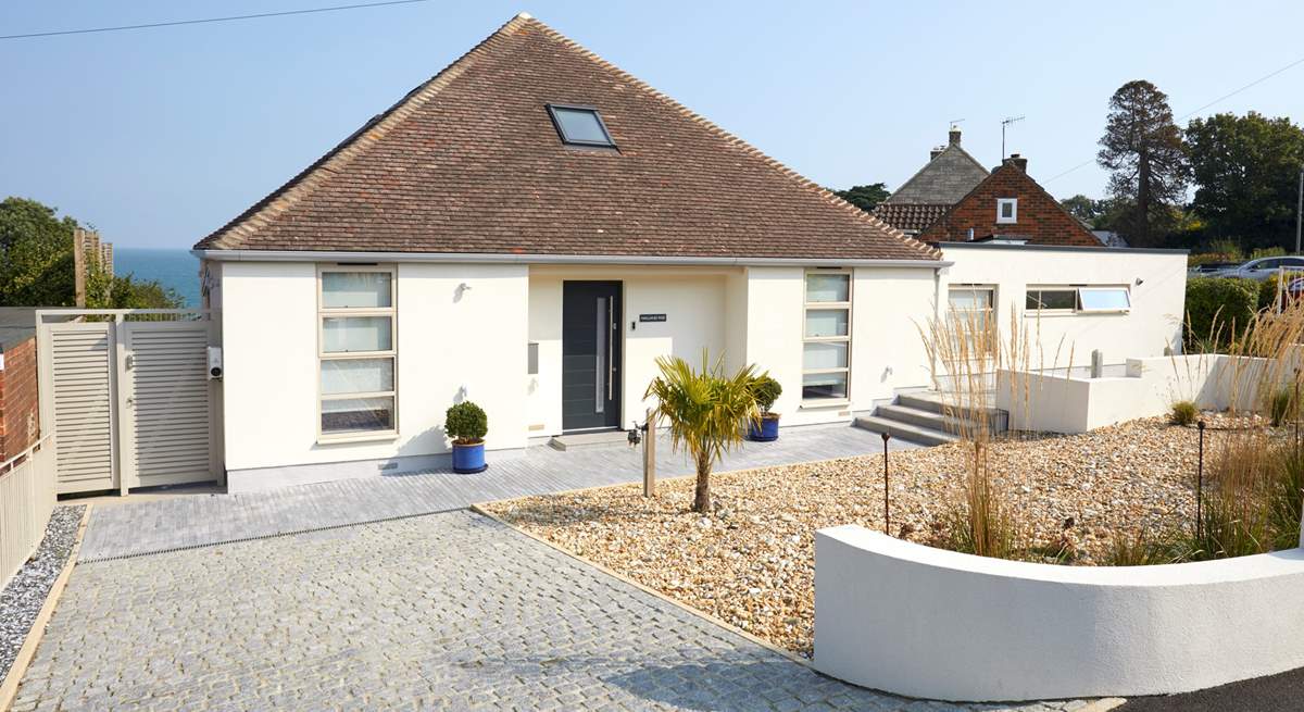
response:
[[(527, 370), (527, 267), (398, 266), (398, 437), (317, 441), (317, 266), (308, 262), (223, 265), (226, 466), (286, 468), (449, 452), (443, 415), (460, 398), (489, 415), (486, 447), (526, 445), (522, 390)], [(459, 295), (466, 283), (471, 289)], [(422, 458), (425, 458), (422, 460)], [(399, 469), (404, 469), (402, 466)], [(377, 475), (379, 467), (347, 476)], [(267, 472), (276, 484), (335, 479), (340, 472)], [(232, 476), (257, 488), (259, 473)]]

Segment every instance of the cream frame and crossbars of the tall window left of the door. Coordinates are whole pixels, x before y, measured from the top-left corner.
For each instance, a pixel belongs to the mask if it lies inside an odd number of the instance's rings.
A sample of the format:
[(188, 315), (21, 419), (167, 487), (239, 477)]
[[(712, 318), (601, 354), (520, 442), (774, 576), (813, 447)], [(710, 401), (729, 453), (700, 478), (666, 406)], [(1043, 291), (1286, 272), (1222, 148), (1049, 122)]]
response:
[[(389, 308), (327, 308), (325, 305), (323, 275), (331, 273), (385, 273), (390, 275), (390, 305)], [(317, 266), (317, 442), (365, 442), (377, 439), (394, 439), (399, 434), (399, 279), (398, 269), (394, 265), (318, 265)], [(387, 351), (347, 351), (326, 352), (326, 318), (329, 317), (389, 317), (390, 319), (390, 348)], [(322, 363), (325, 361), (360, 361), (368, 359), (390, 359), (394, 364), (393, 390), (323, 394), (322, 393)], [(393, 428), (386, 430), (365, 430), (355, 433), (323, 433), (322, 432), (322, 404), (327, 400), (355, 400), (363, 398), (393, 398), (394, 411), (390, 413)]]

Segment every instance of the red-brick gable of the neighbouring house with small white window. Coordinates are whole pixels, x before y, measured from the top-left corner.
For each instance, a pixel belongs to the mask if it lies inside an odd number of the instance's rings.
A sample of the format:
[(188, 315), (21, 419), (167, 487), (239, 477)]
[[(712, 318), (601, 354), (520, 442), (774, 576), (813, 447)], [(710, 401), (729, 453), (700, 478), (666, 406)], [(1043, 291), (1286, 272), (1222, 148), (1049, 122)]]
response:
[[(974, 239), (999, 235), (1025, 239), (1030, 245), (1102, 246), (1077, 218), (1028, 175), (1022, 159), (1005, 159), (918, 239), (926, 243), (964, 243), (973, 230)], [(998, 198), (1018, 198), (1018, 222), (996, 223)]]

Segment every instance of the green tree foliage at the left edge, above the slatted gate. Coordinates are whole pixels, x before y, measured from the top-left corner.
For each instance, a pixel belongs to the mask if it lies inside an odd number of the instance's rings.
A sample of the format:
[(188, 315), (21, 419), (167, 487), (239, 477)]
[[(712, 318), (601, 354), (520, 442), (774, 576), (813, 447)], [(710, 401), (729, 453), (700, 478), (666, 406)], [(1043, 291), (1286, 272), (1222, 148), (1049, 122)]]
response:
[[(70, 216), (27, 198), (0, 202), (0, 306), (73, 306), (77, 286)], [(87, 306), (95, 309), (175, 309), (181, 295), (153, 279), (115, 276), (90, 256)]]

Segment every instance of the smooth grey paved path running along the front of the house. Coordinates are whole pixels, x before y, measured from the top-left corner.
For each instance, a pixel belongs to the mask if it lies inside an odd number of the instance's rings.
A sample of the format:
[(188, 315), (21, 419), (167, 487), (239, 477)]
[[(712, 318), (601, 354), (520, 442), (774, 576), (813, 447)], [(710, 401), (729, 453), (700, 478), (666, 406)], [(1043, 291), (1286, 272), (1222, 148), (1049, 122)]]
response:
[[(657, 475), (691, 472), (682, 452), (657, 443)], [(915, 447), (892, 441), (893, 449)], [(747, 442), (717, 471), (882, 452), (876, 433), (848, 425), (784, 430), (776, 442)], [(497, 455), (497, 456), (496, 456)], [(430, 471), (300, 485), (243, 494), (202, 494), (94, 507), (80, 561), (167, 552), (463, 509), (475, 502), (542, 494), (643, 477), (642, 451), (617, 446), (562, 452), (548, 446), (490, 452), (479, 475)]]

